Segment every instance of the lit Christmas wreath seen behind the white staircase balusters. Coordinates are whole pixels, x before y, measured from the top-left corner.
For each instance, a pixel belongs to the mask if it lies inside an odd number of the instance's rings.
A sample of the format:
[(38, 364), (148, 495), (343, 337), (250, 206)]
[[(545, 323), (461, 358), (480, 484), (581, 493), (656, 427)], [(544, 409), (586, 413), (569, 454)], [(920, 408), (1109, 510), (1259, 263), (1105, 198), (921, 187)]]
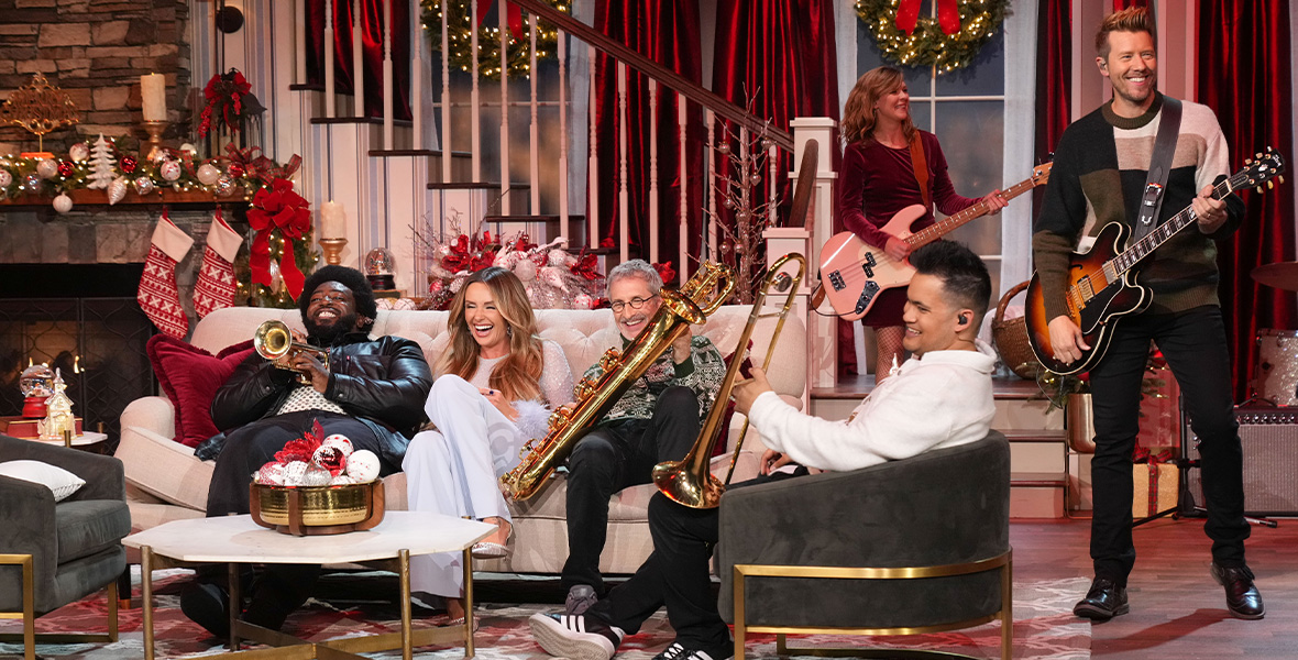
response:
[[(563, 13), (572, 13), (571, 5), (565, 0), (545, 0), (546, 4)], [(478, 75), (498, 81), (500, 79), (500, 26), (482, 22), (483, 16), (492, 6), (489, 0), (478, 3)], [(441, 0), (419, 0), (421, 23), (423, 23), (432, 52), (441, 52)], [(447, 9), (450, 13), (450, 22), (447, 27), (447, 43), (450, 53), (450, 65), (467, 71), (472, 68), (472, 19), (469, 3), (465, 0), (448, 0)], [(498, 10), (504, 10), (500, 8)], [(531, 36), (527, 32), (530, 14), (523, 13), (522, 34), (510, 34), (508, 39), (508, 75), (510, 78), (527, 78), (531, 69)], [(546, 25), (544, 21), (536, 23), (536, 58), (544, 60), (554, 57), (558, 48), (558, 29)]]

